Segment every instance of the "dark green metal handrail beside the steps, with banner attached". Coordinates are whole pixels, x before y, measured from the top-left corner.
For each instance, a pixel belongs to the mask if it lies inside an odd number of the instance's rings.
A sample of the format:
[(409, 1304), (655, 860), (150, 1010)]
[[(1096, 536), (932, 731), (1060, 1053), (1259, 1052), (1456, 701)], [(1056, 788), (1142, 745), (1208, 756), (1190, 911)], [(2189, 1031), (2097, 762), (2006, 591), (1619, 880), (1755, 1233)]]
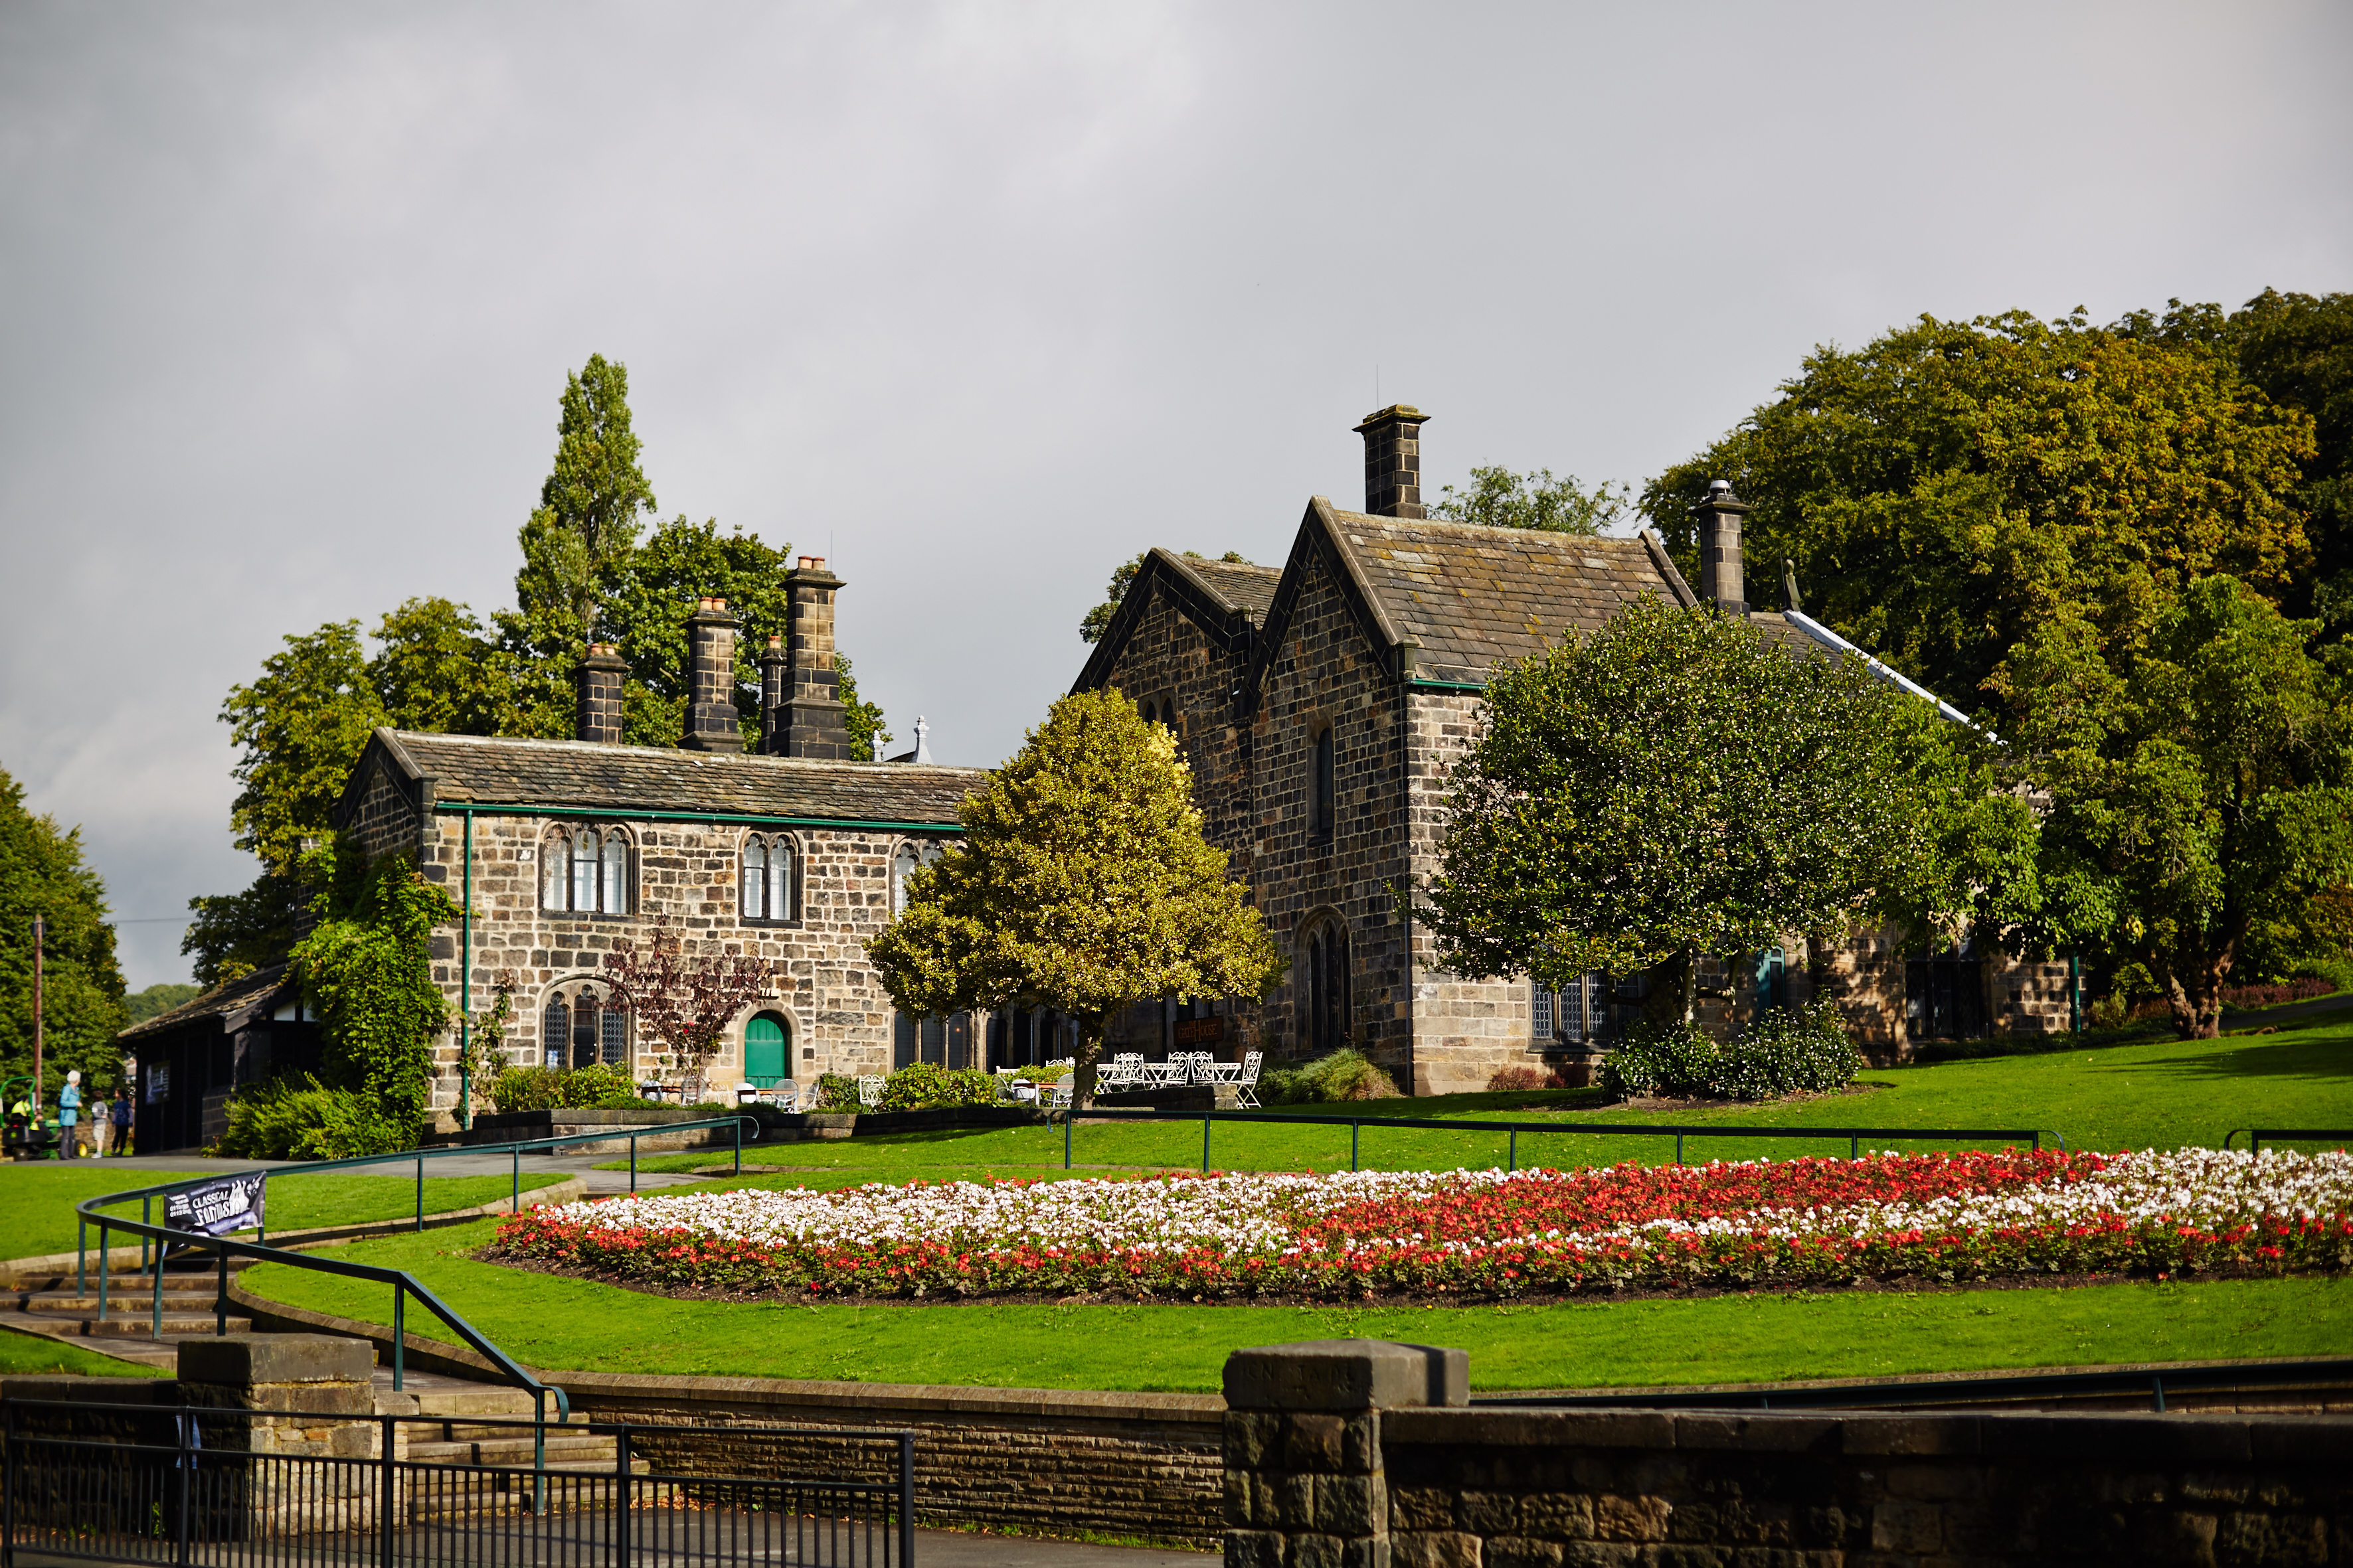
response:
[[(367, 1279), (372, 1284), (386, 1284), (386, 1286), (393, 1286), (393, 1389), (395, 1392), (402, 1387), (405, 1359), (407, 1359), (405, 1356), (405, 1352), (407, 1352), (407, 1328), (405, 1328), (407, 1312), (405, 1312), (405, 1307), (407, 1307), (407, 1298), (414, 1295), (468, 1349), (473, 1349), (485, 1361), (489, 1361), (508, 1382), (513, 1382), (515, 1387), (520, 1387), (527, 1394), (532, 1394), (532, 1410), (534, 1410), (532, 1420), (534, 1420), (534, 1425), (544, 1425), (546, 1396), (548, 1394), (555, 1394), (558, 1422), (562, 1422), (562, 1420), (572, 1418), (572, 1401), (565, 1396), (565, 1392), (560, 1387), (541, 1382), (539, 1378), (534, 1378), (532, 1373), (527, 1373), (522, 1368), (522, 1363), (518, 1363), (504, 1349), (499, 1349), (496, 1345), (492, 1345), (473, 1324), (468, 1324), (464, 1316), (459, 1316), (442, 1298), (433, 1295), (433, 1291), (421, 1279), (416, 1279), (414, 1274), (409, 1274), (407, 1269), (386, 1269), (386, 1267), (376, 1267), (372, 1262), (348, 1262), (344, 1258), (318, 1258), (318, 1255), (311, 1255), (311, 1253), (296, 1253), (296, 1251), (289, 1251), (289, 1248), (268, 1246), (261, 1239), (254, 1239), (254, 1241), (231, 1241), (228, 1237), (202, 1237), (202, 1234), (186, 1232), (186, 1229), (169, 1229), (165, 1225), (155, 1225), (153, 1222), (153, 1201), (158, 1197), (169, 1197), (174, 1192), (186, 1192), (191, 1187), (202, 1187), (207, 1182), (216, 1182), (216, 1180), (221, 1180), (221, 1175), (252, 1175), (256, 1171), (264, 1173), (264, 1175), (271, 1175), (271, 1173), (278, 1173), (278, 1175), (311, 1175), (311, 1173), (318, 1173), (318, 1171), (348, 1171), (353, 1166), (376, 1166), (376, 1164), (391, 1164), (391, 1161), (409, 1161), (409, 1159), (414, 1159), (416, 1161), (416, 1194), (419, 1194), (416, 1197), (416, 1204), (419, 1204), (419, 1208), (416, 1208), (416, 1227), (424, 1229), (424, 1161), (426, 1159), (449, 1159), (449, 1157), (459, 1157), (459, 1154), (511, 1154), (515, 1159), (515, 1187), (513, 1187), (513, 1199), (511, 1201), (515, 1204), (515, 1208), (520, 1208), (520, 1204), (522, 1204), (522, 1154), (525, 1152), (560, 1150), (560, 1147), (569, 1147), (574, 1143), (607, 1143), (612, 1138), (628, 1138), (628, 1185), (631, 1185), (631, 1192), (635, 1192), (638, 1190), (638, 1138), (661, 1135), (661, 1133), (692, 1133), (692, 1131), (699, 1131), (699, 1128), (706, 1128), (706, 1126), (732, 1126), (734, 1135), (736, 1135), (736, 1171), (741, 1171), (744, 1168), (744, 1124), (746, 1121), (753, 1126), (753, 1143), (758, 1143), (760, 1140), (760, 1131), (758, 1131), (760, 1128), (760, 1119), (758, 1117), (706, 1117), (706, 1119), (699, 1119), (699, 1121), (661, 1121), (661, 1124), (640, 1126), (640, 1128), (605, 1128), (605, 1131), (595, 1131), (595, 1133), (569, 1133), (569, 1135), (562, 1135), (562, 1138), (529, 1138), (529, 1140), (494, 1143), (494, 1145), (449, 1145), (449, 1147), (440, 1147), (440, 1150), (407, 1150), (407, 1152), (400, 1152), (400, 1154), (360, 1154), (360, 1157), (353, 1157), (353, 1159), (318, 1159), (318, 1161), (289, 1164), (289, 1166), (247, 1166), (242, 1171), (214, 1171), (214, 1173), (205, 1173), (205, 1175), (188, 1175), (188, 1178), (181, 1178), (181, 1180), (174, 1180), (174, 1182), (160, 1182), (155, 1187), (132, 1187), (127, 1192), (108, 1192), (104, 1197), (82, 1199), (80, 1204), (73, 1206), (73, 1213), (75, 1213), (75, 1218), (80, 1222), (78, 1225), (78, 1258), (75, 1258), (75, 1291), (78, 1293), (87, 1293), (89, 1291), (89, 1227), (92, 1225), (99, 1227), (99, 1321), (101, 1324), (106, 1321), (106, 1284), (108, 1284), (108, 1274), (111, 1274), (108, 1262), (106, 1262), (106, 1253), (108, 1253), (106, 1234), (111, 1229), (120, 1229), (120, 1232), (139, 1237), (141, 1239), (141, 1248), (139, 1248), (141, 1253), (146, 1253), (146, 1244), (148, 1241), (155, 1241), (155, 1255), (153, 1255), (155, 1258), (153, 1260), (153, 1276), (155, 1276), (155, 1307), (153, 1307), (153, 1312), (155, 1312), (155, 1319), (153, 1321), (155, 1321), (155, 1338), (158, 1340), (162, 1338), (162, 1265), (165, 1265), (165, 1253), (169, 1248), (174, 1248), (174, 1246), (176, 1248), (212, 1248), (212, 1255), (219, 1262), (219, 1279), (221, 1279), (219, 1295), (214, 1300), (214, 1326), (216, 1326), (214, 1331), (221, 1333), (221, 1335), (228, 1333), (228, 1260), (231, 1260), (231, 1255), (256, 1258), (256, 1260), (266, 1260), (266, 1262), (285, 1262), (285, 1265), (292, 1265), (292, 1267), (299, 1267), (299, 1269), (311, 1269), (315, 1274), (341, 1274), (344, 1279)], [(115, 1218), (115, 1215), (106, 1215), (106, 1213), (94, 1213), (99, 1206), (106, 1206), (106, 1204), (129, 1204), (132, 1199), (141, 1201), (141, 1218), (139, 1220)], [(256, 1237), (261, 1237), (261, 1234), (266, 1234), (266, 1232), (256, 1229)], [(541, 1432), (541, 1446), (544, 1446), (544, 1441), (546, 1441), (546, 1434)], [(544, 1453), (544, 1448), (541, 1448), (541, 1453)]]

